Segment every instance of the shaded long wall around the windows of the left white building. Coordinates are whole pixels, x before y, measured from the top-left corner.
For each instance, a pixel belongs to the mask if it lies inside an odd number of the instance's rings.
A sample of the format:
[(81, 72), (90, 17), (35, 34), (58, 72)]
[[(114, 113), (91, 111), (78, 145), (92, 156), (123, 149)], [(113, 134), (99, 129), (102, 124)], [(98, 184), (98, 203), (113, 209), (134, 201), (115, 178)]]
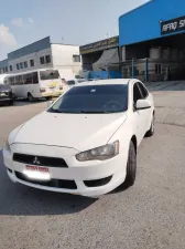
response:
[[(45, 56), (45, 55), (51, 56), (51, 63), (41, 64), (40, 58)], [(31, 66), (30, 60), (34, 60), (34, 66)], [(21, 63), (21, 62), (25, 62), (25, 61), (28, 62), (28, 68), (17, 70), (17, 63)], [(45, 49), (45, 50), (41, 50), (41, 51), (35, 52), (35, 53), (26, 54), (26, 55), (21, 56), (21, 58), (17, 58), (14, 60), (9, 60), (8, 64), (9, 64), (9, 66), (12, 65), (12, 68), (13, 68), (12, 72), (10, 72), (10, 68), (9, 68), (9, 73), (25, 72), (28, 70), (34, 70), (34, 69), (53, 68), (51, 48)]]

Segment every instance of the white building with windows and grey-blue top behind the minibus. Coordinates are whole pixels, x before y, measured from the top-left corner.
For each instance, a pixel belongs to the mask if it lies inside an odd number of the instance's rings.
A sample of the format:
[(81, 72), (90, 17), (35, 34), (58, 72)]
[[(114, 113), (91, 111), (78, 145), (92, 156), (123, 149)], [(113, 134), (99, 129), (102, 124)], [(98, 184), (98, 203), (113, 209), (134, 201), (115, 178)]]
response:
[(0, 61), (0, 74), (20, 73), (29, 70), (55, 68), (78, 75), (81, 60), (78, 45), (51, 43), (50, 37), (23, 46)]

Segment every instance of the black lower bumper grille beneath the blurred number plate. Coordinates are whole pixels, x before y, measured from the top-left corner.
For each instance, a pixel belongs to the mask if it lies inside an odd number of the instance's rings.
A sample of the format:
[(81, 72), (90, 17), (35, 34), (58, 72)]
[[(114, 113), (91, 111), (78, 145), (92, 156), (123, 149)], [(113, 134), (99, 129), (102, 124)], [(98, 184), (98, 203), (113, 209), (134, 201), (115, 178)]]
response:
[(66, 188), (66, 189), (77, 189), (75, 180), (64, 180), (64, 179), (51, 179), (48, 181), (43, 180), (32, 180), (29, 179), (24, 174), (14, 172), (18, 179), (24, 180), (30, 184), (36, 184), (45, 187), (55, 187), (55, 188)]

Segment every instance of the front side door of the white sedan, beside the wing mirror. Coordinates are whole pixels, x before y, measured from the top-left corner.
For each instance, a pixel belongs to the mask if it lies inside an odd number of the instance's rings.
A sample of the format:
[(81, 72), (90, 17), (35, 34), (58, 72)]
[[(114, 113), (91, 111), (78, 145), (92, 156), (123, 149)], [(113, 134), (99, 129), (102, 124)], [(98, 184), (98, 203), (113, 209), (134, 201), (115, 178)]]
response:
[(138, 138), (138, 144), (141, 143), (143, 136), (145, 135), (145, 112), (144, 110), (137, 110), (137, 101), (142, 100), (143, 96), (141, 94), (140, 87), (138, 82), (133, 84), (133, 122), (134, 122), (134, 127), (135, 127), (135, 135)]

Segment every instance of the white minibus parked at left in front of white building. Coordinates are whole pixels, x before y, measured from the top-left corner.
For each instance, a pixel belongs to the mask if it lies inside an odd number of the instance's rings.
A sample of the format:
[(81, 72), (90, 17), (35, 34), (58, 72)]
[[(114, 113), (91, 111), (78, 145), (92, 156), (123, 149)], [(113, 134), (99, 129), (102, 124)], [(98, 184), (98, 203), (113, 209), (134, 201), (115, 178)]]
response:
[(34, 101), (36, 98), (58, 96), (63, 93), (63, 83), (58, 70), (43, 69), (10, 74), (4, 84), (11, 85), (15, 97)]

